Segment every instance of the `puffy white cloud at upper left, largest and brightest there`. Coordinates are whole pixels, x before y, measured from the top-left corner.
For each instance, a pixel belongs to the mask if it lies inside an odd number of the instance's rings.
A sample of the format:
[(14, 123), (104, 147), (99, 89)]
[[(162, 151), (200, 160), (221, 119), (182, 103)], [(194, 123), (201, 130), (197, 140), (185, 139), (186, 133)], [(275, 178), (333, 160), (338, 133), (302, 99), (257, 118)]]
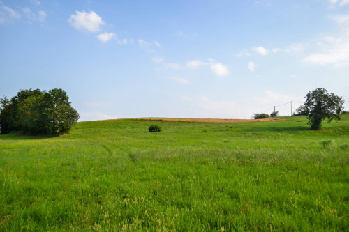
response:
[(94, 11), (87, 13), (84, 10), (82, 12), (75, 10), (75, 13), (75, 15), (70, 16), (68, 22), (77, 30), (96, 32), (100, 30), (101, 25), (105, 24)]

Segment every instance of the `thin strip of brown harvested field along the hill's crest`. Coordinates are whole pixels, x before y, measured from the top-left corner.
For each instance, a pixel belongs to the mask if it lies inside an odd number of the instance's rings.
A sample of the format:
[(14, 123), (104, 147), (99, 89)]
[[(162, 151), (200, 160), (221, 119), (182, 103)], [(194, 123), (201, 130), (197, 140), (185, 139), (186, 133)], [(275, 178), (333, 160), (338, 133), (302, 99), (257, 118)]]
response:
[(248, 123), (261, 121), (279, 121), (284, 118), (263, 118), (263, 119), (220, 119), (220, 118), (129, 118), (135, 120), (161, 120), (161, 121), (186, 121), (200, 123)]

